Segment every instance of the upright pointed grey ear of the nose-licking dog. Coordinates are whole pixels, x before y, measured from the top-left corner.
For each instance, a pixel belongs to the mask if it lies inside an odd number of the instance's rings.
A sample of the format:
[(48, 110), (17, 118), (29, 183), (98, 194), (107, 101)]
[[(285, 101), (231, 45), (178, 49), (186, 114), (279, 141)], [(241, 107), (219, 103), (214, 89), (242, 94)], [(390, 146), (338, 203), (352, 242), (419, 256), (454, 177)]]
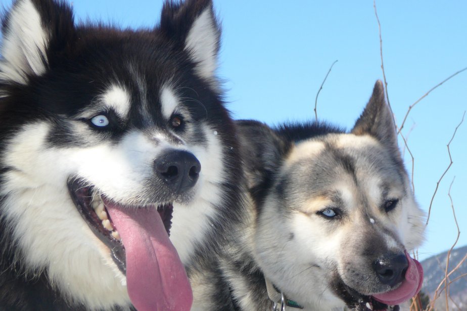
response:
[(381, 80), (375, 83), (373, 94), (351, 133), (370, 135), (384, 146), (398, 150), (396, 126), (391, 109), (384, 98), (384, 86)]

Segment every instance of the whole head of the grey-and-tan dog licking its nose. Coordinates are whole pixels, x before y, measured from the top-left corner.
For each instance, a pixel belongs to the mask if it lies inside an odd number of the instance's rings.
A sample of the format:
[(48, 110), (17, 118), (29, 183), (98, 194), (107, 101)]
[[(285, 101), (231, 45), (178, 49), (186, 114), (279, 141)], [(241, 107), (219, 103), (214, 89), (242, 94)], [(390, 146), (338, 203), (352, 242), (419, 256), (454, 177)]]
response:
[(257, 152), (246, 156), (258, 203), (255, 256), (277, 289), (312, 310), (386, 310), (419, 290), (422, 272), (407, 251), (423, 240), (424, 213), (381, 81), (349, 133), (244, 124), (242, 135), (260, 146), (244, 142)]

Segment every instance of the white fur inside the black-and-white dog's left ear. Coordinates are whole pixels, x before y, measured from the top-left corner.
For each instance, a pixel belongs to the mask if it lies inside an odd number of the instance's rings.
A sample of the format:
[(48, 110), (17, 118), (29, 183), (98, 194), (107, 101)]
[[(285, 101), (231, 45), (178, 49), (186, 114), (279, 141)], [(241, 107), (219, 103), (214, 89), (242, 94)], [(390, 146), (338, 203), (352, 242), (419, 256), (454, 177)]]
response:
[(49, 30), (42, 27), (40, 16), (30, 0), (17, 3), (10, 14), (9, 30), (4, 33), (0, 61), (0, 80), (27, 83), (27, 75), (46, 70), (42, 58), (49, 41)]

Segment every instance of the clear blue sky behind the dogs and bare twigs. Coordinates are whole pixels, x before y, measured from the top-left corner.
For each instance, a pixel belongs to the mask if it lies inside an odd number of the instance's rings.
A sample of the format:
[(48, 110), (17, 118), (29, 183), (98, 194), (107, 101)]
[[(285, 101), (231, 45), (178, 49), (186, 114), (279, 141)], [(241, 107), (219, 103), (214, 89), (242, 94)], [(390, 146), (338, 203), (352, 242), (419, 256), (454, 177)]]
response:
[[(0, 0), (6, 7), (11, 0)], [(161, 0), (74, 0), (77, 19), (123, 27), (152, 26)], [(382, 79), (378, 24), (372, 1), (215, 1), (222, 22), (219, 75), (236, 118), (269, 124), (318, 117), (350, 128)], [(398, 123), (409, 105), (431, 87), (467, 66), (467, 2), (377, 1), (389, 99)], [(404, 135), (415, 157), (414, 184), (428, 210), (436, 182), (449, 164), (446, 144), (467, 110), (467, 72), (449, 80), (410, 113)], [(410, 130), (411, 129), (411, 130)], [(403, 142), (400, 142), (402, 146)], [(411, 158), (405, 153), (408, 170)], [(453, 165), (435, 197), (424, 259), (450, 248), (457, 231), (448, 188), (467, 244), (467, 118), (451, 143)]]

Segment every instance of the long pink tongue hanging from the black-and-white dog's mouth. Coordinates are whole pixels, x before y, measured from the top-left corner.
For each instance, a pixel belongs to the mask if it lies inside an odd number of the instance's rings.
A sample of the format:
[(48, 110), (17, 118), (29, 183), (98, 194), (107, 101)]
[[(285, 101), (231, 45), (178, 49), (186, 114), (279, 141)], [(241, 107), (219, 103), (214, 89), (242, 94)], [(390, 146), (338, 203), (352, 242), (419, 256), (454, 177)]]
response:
[(125, 209), (107, 204), (126, 251), (126, 283), (138, 311), (188, 311), (190, 282), (156, 208)]

